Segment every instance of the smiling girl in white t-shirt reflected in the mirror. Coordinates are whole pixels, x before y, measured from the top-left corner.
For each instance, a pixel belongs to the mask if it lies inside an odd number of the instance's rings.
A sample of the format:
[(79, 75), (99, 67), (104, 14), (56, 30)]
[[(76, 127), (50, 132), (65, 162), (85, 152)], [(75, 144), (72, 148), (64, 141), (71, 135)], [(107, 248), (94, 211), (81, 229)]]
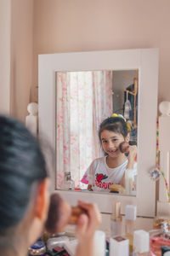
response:
[(111, 184), (125, 187), (125, 170), (137, 174), (134, 161), (137, 147), (129, 146), (127, 156), (120, 150), (122, 142), (129, 142), (126, 121), (118, 116), (105, 119), (99, 126), (99, 140), (105, 156), (94, 160), (88, 167), (88, 189), (108, 191)]

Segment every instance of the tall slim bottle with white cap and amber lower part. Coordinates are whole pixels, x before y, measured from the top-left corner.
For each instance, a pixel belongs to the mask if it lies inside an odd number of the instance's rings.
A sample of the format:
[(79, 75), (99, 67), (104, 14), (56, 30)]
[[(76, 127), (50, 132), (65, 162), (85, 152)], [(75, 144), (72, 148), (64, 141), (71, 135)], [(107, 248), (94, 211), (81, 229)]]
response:
[(127, 205), (125, 207), (125, 237), (129, 240), (129, 252), (133, 253), (133, 231), (136, 220), (137, 207)]

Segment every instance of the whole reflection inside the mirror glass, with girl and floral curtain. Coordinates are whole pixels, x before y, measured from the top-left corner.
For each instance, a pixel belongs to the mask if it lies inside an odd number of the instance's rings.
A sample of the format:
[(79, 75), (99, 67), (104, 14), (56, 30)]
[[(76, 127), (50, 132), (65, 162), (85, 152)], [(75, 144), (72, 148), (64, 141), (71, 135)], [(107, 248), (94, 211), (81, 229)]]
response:
[(137, 128), (138, 70), (57, 72), (57, 189), (135, 195)]

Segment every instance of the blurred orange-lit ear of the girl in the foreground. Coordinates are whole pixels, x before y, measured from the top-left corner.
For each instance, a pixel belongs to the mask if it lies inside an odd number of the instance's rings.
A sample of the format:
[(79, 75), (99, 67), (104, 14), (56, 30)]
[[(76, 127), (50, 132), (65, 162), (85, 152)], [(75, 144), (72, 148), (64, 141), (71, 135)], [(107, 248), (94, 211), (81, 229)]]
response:
[(35, 217), (45, 221), (48, 216), (49, 207), (49, 178), (46, 177), (42, 183), (39, 184), (37, 192), (37, 202), (35, 209)]

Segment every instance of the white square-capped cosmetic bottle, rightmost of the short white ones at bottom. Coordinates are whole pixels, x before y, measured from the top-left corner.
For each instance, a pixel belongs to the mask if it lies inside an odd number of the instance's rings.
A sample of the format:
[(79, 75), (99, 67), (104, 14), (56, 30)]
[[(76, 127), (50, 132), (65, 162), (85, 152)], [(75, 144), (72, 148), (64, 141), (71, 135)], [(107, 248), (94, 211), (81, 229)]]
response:
[(148, 256), (150, 252), (150, 234), (144, 230), (133, 233), (133, 256)]

